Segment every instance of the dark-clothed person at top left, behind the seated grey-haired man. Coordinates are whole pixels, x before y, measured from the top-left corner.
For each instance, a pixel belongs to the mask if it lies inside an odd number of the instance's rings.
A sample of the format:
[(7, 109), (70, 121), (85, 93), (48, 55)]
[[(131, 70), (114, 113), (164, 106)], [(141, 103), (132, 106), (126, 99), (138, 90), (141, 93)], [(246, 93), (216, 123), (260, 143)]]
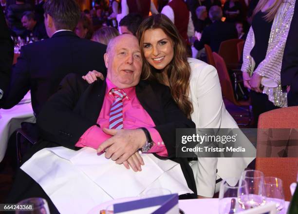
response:
[(32, 10), (32, 6), (29, 3), (25, 3), (25, 0), (16, 0), (15, 4), (7, 7), (6, 18), (8, 25), (18, 36), (21, 36), (26, 30), (21, 22), (23, 13)]

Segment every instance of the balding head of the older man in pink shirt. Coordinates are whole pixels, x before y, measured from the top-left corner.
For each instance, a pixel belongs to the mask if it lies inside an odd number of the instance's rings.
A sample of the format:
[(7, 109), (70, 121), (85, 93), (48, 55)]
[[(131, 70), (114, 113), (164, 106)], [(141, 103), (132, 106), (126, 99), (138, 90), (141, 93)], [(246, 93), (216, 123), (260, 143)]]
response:
[(107, 78), (118, 88), (130, 88), (139, 83), (142, 57), (138, 39), (123, 34), (110, 40), (104, 56)]

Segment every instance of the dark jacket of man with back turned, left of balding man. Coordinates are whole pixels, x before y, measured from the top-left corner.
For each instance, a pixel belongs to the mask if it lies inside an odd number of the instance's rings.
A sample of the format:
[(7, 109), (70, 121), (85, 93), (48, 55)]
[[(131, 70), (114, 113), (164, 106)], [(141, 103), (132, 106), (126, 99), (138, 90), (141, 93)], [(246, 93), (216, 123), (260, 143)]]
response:
[(31, 90), (33, 111), (38, 114), (67, 74), (82, 76), (97, 70), (105, 75), (105, 51), (106, 45), (80, 39), (72, 31), (60, 31), (51, 39), (23, 46), (12, 70), (9, 91), (0, 100), (0, 107), (12, 108)]

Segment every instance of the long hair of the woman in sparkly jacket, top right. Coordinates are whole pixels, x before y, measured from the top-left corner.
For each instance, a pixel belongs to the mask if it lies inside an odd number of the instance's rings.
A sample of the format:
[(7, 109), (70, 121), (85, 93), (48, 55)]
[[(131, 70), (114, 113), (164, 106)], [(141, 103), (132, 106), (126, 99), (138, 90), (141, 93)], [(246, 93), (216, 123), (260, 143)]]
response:
[[(279, 10), (280, 5), (282, 4), (283, 0), (275, 0), (275, 2), (268, 7), (267, 10), (265, 10), (266, 15), (264, 16), (265, 20), (270, 22), (273, 21), (276, 13)], [(261, 9), (265, 6), (265, 4), (267, 3), (267, 0), (260, 0), (259, 3), (257, 4), (256, 8), (254, 9), (253, 12), (253, 17), (259, 12), (261, 11)]]

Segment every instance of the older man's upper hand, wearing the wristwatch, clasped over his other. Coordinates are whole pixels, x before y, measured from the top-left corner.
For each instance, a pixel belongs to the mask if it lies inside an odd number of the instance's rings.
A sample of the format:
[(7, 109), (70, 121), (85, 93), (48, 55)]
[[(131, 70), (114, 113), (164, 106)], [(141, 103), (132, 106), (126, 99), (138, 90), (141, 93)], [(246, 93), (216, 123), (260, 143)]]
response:
[(146, 135), (142, 129), (102, 129), (106, 134), (112, 135), (97, 149), (97, 153), (106, 151), (106, 158), (112, 158), (121, 164), (128, 160), (146, 142)]

